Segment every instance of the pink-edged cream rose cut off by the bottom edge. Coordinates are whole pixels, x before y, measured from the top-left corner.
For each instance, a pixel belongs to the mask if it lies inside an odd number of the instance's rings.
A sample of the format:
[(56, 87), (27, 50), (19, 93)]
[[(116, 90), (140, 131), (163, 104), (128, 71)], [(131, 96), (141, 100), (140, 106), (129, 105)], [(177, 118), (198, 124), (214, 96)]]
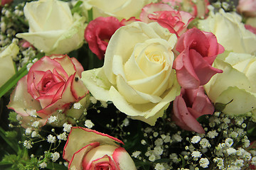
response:
[(136, 170), (129, 154), (115, 137), (87, 128), (71, 128), (63, 150), (63, 159), (69, 162), (68, 169)]

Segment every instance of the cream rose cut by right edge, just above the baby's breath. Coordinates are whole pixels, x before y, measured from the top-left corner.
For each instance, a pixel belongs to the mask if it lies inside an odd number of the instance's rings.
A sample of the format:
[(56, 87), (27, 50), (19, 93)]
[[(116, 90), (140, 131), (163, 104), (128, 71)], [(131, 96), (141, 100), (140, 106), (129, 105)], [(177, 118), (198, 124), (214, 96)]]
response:
[(204, 87), (213, 103), (227, 104), (223, 113), (241, 115), (256, 108), (256, 56), (224, 52), (213, 66), (222, 69)]

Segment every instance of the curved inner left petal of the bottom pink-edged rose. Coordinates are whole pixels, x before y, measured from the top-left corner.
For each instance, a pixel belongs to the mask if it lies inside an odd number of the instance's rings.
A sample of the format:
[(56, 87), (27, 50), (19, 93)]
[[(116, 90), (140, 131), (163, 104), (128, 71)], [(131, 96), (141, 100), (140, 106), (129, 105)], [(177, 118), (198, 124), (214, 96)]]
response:
[[(68, 169), (75, 168), (76, 170), (82, 170), (82, 160), (84, 159), (85, 154), (87, 154), (87, 152), (90, 152), (91, 149), (98, 147), (98, 146), (100, 146), (100, 143), (94, 142), (89, 145), (86, 145), (85, 147), (82, 147), (77, 152), (75, 152), (75, 154), (71, 155), (72, 159), (70, 159), (70, 160), (66, 159), (66, 161), (69, 162)], [(64, 148), (64, 150), (65, 150), (65, 148)], [(64, 157), (70, 157), (70, 152), (68, 150), (63, 152), (63, 158)]]

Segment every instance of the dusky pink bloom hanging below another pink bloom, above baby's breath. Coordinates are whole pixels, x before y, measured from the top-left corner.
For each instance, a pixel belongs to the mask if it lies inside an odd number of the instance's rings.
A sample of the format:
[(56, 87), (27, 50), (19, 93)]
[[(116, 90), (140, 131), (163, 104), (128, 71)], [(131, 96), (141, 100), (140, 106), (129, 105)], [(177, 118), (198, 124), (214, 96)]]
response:
[(196, 119), (201, 115), (211, 115), (214, 112), (214, 106), (204, 93), (203, 86), (199, 86), (198, 89), (181, 88), (181, 95), (175, 98), (173, 107), (172, 119), (176, 125), (184, 130), (198, 133), (205, 131)]

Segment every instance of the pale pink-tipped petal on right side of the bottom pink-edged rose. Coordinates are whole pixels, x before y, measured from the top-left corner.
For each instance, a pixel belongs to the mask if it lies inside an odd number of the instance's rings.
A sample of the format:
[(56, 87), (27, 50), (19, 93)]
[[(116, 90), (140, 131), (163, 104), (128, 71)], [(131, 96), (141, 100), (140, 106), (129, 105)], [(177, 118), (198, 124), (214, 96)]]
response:
[(134, 161), (123, 147), (115, 149), (112, 157), (120, 170), (136, 170)]

